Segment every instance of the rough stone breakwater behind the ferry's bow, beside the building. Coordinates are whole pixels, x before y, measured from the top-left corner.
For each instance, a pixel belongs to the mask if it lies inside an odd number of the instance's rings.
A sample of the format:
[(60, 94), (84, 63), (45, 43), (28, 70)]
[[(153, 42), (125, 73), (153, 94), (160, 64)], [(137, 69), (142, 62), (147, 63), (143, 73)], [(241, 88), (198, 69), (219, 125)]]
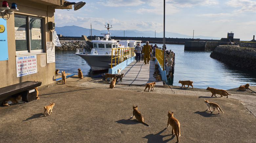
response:
[(60, 41), (61, 47), (55, 47), (55, 50), (75, 50), (79, 48), (84, 48), (87, 51), (91, 51), (91, 42), (82, 40), (63, 40)]

